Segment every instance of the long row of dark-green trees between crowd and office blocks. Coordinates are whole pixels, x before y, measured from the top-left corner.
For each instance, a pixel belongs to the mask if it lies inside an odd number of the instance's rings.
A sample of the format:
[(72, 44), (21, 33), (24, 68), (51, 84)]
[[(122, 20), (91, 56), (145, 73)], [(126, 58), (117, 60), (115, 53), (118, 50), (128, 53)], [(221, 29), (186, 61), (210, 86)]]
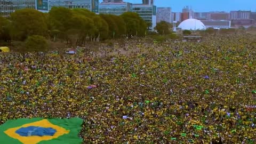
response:
[(144, 36), (148, 25), (137, 13), (120, 16), (95, 14), (86, 9), (52, 7), (49, 13), (21, 9), (10, 20), (0, 17), (0, 40), (25, 41), (29, 36), (43, 36), (51, 41), (79, 44), (95, 39)]

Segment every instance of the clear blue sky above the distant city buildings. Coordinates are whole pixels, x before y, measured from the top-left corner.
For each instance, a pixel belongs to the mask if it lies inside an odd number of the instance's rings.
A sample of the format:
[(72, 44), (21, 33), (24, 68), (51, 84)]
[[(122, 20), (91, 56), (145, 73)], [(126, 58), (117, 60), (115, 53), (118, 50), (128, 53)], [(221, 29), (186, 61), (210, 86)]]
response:
[[(102, 2), (102, 0), (99, 0)], [(141, 0), (124, 0), (141, 3)], [(157, 7), (172, 7), (173, 12), (181, 12), (186, 5), (195, 12), (249, 10), (256, 11), (256, 0), (155, 0)]]

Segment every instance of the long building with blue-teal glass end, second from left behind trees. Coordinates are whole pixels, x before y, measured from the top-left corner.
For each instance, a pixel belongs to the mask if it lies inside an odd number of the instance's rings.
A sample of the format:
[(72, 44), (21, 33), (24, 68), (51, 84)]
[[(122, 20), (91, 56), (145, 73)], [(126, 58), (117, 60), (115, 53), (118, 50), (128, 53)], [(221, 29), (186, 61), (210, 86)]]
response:
[[(40, 1), (40, 0), (37, 0)], [(42, 1), (42, 0), (41, 0)], [(66, 7), (68, 9), (88, 9), (99, 13), (99, 0), (49, 0), (49, 10), (52, 7)], [(37, 6), (38, 7), (38, 6)], [(37, 10), (42, 10), (38, 9)]]

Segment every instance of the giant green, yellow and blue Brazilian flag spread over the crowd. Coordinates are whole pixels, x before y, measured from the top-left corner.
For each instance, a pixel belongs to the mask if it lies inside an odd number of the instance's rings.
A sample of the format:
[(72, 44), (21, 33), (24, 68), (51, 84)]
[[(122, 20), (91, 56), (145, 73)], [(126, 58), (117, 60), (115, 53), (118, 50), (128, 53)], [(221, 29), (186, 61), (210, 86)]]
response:
[(78, 137), (83, 119), (20, 118), (0, 125), (0, 143), (82, 143)]

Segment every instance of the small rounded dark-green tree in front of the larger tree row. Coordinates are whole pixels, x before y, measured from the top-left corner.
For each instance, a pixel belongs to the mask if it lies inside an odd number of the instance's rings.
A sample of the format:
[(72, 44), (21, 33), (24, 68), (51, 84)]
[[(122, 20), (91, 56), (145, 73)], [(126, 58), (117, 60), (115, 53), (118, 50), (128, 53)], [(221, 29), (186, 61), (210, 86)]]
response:
[(25, 48), (28, 52), (42, 52), (47, 51), (49, 44), (45, 37), (33, 35), (26, 39)]

